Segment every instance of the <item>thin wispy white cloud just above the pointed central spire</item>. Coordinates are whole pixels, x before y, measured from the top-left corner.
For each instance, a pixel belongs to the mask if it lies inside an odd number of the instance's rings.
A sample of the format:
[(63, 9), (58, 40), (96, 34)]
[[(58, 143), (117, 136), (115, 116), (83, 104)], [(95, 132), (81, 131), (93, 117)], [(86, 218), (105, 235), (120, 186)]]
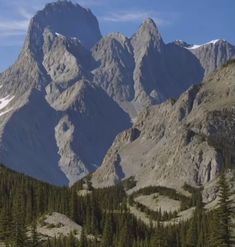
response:
[(171, 18), (164, 18), (164, 15), (167, 16), (166, 13), (162, 14), (155, 11), (119, 11), (101, 16), (100, 20), (105, 22), (141, 22), (150, 17), (160, 26), (171, 24)]

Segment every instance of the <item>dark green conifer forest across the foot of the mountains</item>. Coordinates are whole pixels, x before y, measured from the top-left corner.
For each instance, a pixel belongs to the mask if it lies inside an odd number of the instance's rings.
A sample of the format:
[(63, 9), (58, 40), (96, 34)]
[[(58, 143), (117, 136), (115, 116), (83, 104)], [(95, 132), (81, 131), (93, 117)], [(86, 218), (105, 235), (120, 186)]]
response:
[[(230, 186), (224, 174), (219, 179), (219, 204), (206, 211), (201, 190), (185, 185), (191, 197), (163, 187), (150, 187), (127, 196), (133, 181), (105, 189), (93, 189), (89, 177), (71, 188), (56, 187), (0, 167), (0, 243), (6, 246), (117, 246), (117, 247), (222, 247), (232, 245)], [(87, 193), (79, 193), (80, 191)], [(129, 211), (138, 194), (158, 191), (181, 201), (182, 207), (194, 206), (190, 220), (179, 224), (164, 224), (175, 214), (147, 210), (158, 224), (146, 225)], [(88, 193), (89, 192), (89, 193)], [(145, 210), (145, 209), (143, 209)], [(49, 238), (37, 233), (43, 215), (59, 212), (82, 226), (80, 240), (71, 232), (68, 236)], [(53, 226), (50, 226), (53, 227)]]

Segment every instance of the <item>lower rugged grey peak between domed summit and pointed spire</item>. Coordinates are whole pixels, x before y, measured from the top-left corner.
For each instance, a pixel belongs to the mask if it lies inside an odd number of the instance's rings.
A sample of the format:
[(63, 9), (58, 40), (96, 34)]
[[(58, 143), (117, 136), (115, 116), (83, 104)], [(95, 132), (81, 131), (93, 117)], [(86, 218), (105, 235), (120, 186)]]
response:
[(117, 102), (134, 98), (134, 58), (130, 40), (120, 33), (104, 37), (92, 50), (98, 68), (94, 82)]

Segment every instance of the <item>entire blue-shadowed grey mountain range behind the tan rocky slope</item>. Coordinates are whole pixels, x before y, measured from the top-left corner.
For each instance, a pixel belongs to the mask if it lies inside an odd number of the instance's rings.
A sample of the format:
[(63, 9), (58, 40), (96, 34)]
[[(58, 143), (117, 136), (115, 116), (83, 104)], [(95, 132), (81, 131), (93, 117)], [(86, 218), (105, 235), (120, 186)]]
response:
[[(178, 97), (234, 53), (232, 46), (216, 51), (165, 44), (151, 19), (131, 38), (102, 37), (90, 10), (47, 4), (32, 18), (16, 63), (0, 74), (0, 162), (74, 183), (102, 163), (145, 107)], [(136, 128), (128, 138), (141, 134)], [(122, 177), (120, 162), (116, 156)]]

